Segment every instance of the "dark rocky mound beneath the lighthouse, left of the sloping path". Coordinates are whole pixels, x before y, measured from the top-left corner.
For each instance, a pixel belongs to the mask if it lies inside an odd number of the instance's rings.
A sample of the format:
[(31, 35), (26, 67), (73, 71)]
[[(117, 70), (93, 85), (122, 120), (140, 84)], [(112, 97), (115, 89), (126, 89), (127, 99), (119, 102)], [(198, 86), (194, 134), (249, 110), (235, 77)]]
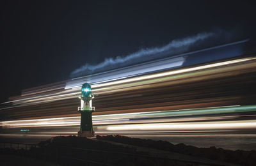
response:
[[(148, 142), (148, 146), (153, 142)], [(17, 152), (21, 150), (12, 149), (9, 154), (45, 160), (57, 165), (191, 165), (168, 158), (154, 158), (136, 151), (135, 147), (75, 136), (54, 137), (40, 142), (38, 147), (23, 150), (23, 153)]]

